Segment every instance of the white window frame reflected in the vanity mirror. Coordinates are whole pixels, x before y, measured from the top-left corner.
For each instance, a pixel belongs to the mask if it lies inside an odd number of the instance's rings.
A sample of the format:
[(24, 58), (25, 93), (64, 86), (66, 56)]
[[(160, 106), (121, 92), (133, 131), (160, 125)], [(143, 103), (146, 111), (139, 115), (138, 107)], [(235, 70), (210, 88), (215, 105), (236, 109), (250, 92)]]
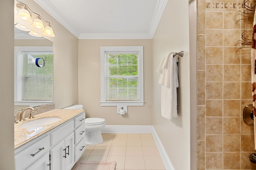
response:
[(53, 52), (52, 46), (15, 46), (14, 47), (14, 106), (41, 106), (51, 104), (52, 100), (22, 100), (22, 61), (23, 51)]

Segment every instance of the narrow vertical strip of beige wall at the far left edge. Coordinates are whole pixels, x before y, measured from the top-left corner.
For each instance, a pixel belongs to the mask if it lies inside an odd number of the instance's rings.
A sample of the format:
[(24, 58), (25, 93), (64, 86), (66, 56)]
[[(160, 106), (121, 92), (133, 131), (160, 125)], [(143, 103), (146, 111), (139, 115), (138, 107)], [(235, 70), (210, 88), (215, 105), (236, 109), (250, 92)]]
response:
[[(0, 27), (0, 169), (14, 170), (14, 33), (13, 33), (14, 1), (1, 2), (0, 15), (4, 16)], [(8, 29), (10, 28), (10, 29)], [(6, 74), (4, 74), (6, 73)]]

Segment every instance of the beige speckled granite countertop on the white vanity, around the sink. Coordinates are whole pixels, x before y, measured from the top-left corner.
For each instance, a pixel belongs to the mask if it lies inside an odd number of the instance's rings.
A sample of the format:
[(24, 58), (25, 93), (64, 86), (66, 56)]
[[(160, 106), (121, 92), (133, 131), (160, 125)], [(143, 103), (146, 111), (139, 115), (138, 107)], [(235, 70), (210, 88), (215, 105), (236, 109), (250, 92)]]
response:
[[(25, 143), (35, 139), (36, 137), (50, 131), (54, 127), (61, 125), (62, 123), (68, 121), (69, 119), (75, 117), (82, 113), (84, 109), (53, 109), (50, 111), (46, 111), (44, 113), (40, 113), (38, 115), (34, 115), (33, 119), (26, 118), (25, 121), (19, 121), (17, 124), (14, 124), (14, 149), (24, 145)], [(40, 127), (32, 127), (32, 128), (21, 128), (19, 127), (23, 123), (40, 119), (44, 117), (60, 117), (59, 121), (55, 123), (51, 123), (48, 125), (40, 126)]]

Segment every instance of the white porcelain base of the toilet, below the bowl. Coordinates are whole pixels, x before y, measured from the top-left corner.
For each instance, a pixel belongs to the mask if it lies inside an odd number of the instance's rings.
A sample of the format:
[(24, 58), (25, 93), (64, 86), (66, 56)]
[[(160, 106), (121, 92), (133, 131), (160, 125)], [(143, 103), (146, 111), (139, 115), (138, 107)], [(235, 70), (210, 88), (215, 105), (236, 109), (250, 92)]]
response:
[(103, 143), (100, 131), (92, 131), (85, 133), (85, 145), (98, 145)]

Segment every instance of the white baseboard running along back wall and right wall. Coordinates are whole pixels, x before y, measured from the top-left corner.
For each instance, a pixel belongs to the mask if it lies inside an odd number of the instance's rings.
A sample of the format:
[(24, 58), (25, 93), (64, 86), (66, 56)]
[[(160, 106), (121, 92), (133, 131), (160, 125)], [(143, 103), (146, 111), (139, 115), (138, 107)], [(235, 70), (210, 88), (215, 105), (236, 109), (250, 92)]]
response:
[(164, 146), (162, 145), (153, 126), (106, 125), (106, 127), (101, 132), (102, 133), (152, 133), (166, 170), (174, 170), (174, 167), (172, 166), (172, 162), (170, 161), (166, 151), (164, 150)]

